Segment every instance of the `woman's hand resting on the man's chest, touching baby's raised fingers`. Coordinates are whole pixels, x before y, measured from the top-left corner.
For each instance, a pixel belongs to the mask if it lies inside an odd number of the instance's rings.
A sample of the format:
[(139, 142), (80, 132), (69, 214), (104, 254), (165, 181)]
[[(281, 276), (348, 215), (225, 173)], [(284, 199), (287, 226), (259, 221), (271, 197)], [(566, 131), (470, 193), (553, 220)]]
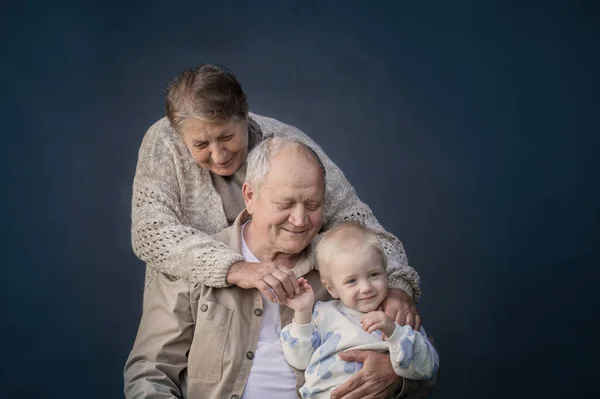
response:
[(300, 292), (291, 267), (281, 263), (237, 262), (229, 268), (226, 281), (244, 289), (256, 288), (271, 302), (281, 305)]

